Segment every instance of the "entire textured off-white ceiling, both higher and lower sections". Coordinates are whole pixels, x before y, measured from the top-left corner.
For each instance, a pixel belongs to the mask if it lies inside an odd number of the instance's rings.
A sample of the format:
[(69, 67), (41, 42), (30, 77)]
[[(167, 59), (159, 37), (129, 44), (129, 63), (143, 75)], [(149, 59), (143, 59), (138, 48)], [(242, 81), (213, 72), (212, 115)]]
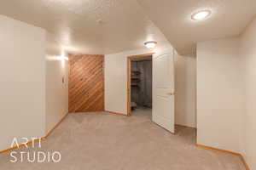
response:
[[(206, 8), (209, 19), (190, 20)], [(196, 42), (239, 35), (256, 15), (256, 0), (5, 0), (0, 14), (45, 28), (68, 52), (112, 54), (168, 40), (191, 54)]]

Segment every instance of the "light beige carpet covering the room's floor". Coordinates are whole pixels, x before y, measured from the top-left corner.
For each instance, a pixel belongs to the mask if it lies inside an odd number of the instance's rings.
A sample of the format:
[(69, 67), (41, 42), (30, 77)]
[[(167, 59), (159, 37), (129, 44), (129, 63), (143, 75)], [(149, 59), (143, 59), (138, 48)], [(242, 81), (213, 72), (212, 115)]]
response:
[[(0, 155), (1, 170), (243, 170), (236, 156), (195, 147), (195, 130), (173, 135), (151, 122), (150, 110), (132, 116), (69, 114), (35, 150), (60, 151), (61, 162), (11, 163)], [(20, 149), (18, 151), (27, 151)]]

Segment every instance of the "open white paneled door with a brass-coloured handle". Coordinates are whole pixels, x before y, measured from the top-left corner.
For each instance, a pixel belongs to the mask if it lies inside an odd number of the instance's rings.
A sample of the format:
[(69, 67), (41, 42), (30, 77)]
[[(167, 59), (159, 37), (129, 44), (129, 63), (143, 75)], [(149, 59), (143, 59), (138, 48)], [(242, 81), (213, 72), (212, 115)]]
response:
[(153, 55), (152, 121), (171, 133), (174, 122), (174, 59), (172, 49)]

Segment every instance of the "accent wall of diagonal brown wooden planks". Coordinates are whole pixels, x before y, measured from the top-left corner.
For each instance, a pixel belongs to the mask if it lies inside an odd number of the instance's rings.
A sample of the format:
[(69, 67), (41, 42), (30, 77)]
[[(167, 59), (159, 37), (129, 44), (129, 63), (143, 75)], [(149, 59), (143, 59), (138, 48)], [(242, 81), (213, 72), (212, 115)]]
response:
[(68, 111), (104, 111), (104, 55), (69, 54)]

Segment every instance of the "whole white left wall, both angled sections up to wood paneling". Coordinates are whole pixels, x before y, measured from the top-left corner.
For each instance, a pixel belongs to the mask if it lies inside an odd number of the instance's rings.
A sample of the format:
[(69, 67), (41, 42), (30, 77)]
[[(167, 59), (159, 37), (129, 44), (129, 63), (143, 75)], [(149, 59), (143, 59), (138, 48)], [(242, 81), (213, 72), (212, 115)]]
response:
[(44, 137), (67, 114), (68, 62), (42, 28), (0, 15), (0, 34), (0, 150), (6, 150), (14, 138)]

